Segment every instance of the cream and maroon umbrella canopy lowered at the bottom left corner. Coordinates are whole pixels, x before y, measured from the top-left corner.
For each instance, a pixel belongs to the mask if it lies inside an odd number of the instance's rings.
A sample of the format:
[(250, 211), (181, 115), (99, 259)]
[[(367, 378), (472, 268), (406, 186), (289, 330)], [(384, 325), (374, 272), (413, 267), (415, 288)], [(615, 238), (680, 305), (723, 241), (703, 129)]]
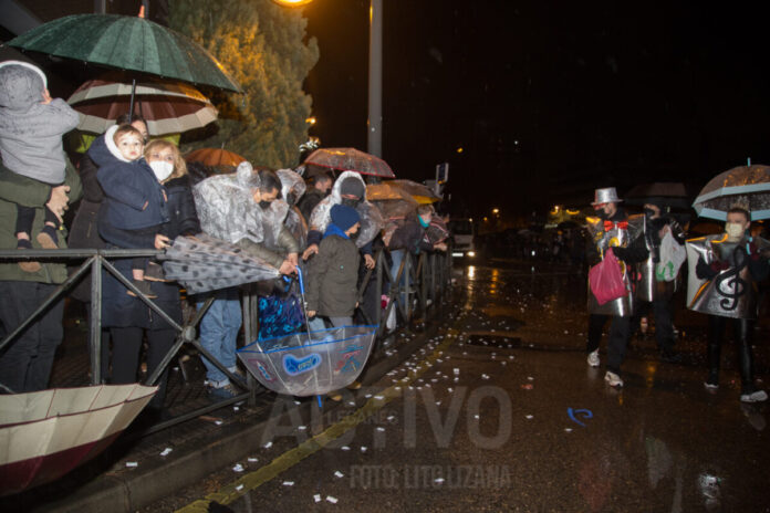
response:
[(156, 391), (133, 384), (0, 396), (0, 495), (59, 479), (102, 452)]

